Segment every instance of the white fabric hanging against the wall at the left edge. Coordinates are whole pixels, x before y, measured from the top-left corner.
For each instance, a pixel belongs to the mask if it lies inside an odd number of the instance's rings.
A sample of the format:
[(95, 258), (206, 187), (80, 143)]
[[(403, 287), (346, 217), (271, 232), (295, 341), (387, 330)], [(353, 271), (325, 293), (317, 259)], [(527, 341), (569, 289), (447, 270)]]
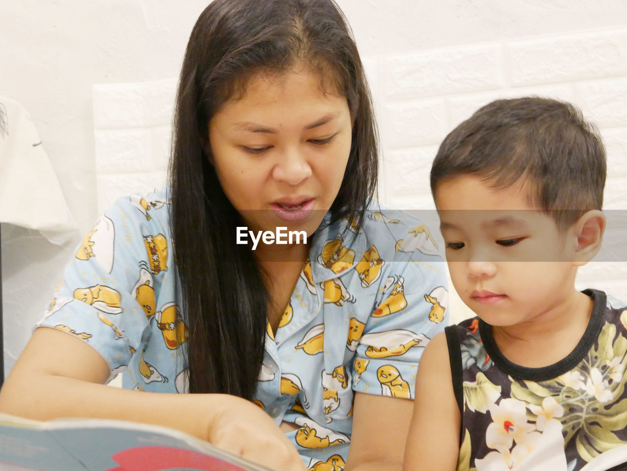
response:
[(0, 222), (41, 231), (76, 228), (33, 120), (6, 97), (0, 97)]

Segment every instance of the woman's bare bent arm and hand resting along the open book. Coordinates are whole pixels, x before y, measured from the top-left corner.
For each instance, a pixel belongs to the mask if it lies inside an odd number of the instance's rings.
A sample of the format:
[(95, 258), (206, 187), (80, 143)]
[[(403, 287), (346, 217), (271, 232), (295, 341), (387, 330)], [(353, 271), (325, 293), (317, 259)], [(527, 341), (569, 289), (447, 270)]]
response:
[(0, 411), (36, 420), (95, 417), (169, 426), (273, 469), (304, 469), (292, 443), (250, 401), (112, 388), (102, 384), (108, 376), (107, 363), (92, 347), (40, 327), (0, 391)]

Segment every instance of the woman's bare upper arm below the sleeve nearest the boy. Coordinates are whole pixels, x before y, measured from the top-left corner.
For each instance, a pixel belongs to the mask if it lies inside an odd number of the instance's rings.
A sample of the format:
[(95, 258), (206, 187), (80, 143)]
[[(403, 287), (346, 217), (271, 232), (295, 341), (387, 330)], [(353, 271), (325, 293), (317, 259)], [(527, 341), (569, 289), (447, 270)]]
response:
[(413, 401), (356, 393), (345, 471), (400, 471)]

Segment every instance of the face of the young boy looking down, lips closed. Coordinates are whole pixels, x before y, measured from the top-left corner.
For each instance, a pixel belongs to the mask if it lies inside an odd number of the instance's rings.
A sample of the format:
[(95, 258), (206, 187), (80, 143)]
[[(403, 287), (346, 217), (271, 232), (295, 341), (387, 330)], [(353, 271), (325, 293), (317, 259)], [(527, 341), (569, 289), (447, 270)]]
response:
[(473, 176), (438, 183), (435, 203), (453, 285), (492, 325), (559, 309), (573, 294), (576, 237), (527, 203), (527, 188), (493, 189)]

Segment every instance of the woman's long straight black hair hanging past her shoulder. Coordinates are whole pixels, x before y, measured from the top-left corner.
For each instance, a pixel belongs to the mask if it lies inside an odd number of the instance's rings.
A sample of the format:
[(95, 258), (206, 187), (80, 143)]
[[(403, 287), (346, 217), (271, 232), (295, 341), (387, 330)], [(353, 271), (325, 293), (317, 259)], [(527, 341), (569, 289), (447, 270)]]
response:
[(177, 299), (189, 328), (191, 393), (252, 398), (263, 361), (270, 295), (247, 245), (237, 245), (240, 214), (209, 163), (208, 123), (246, 80), (305, 61), (332, 77), (354, 125), (349, 161), (332, 220), (361, 226), (377, 182), (377, 135), (357, 47), (332, 0), (215, 0), (192, 30), (174, 117), (171, 233), (180, 278)]

